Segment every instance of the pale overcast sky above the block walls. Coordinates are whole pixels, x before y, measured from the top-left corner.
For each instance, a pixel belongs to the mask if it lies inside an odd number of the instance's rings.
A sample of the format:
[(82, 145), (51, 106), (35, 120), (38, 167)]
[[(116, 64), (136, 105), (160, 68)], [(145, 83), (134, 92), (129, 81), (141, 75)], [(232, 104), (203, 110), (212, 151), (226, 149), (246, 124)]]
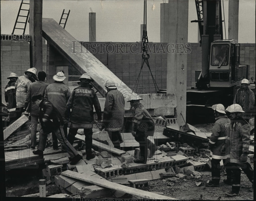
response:
[[(160, 42), (160, 4), (164, 1), (168, 2), (168, 0), (147, 0), (147, 35), (150, 42)], [(143, 2), (143, 0), (43, 0), (42, 16), (53, 18), (59, 23), (63, 9), (65, 13), (70, 9), (65, 29), (77, 40), (89, 41), (91, 7), (93, 12), (96, 12), (98, 42), (136, 42), (141, 40)], [(20, 3), (19, 0), (1, 0), (1, 34), (12, 33)], [(223, 3), (228, 37), (228, 0), (223, 0)], [(197, 19), (195, 1), (189, 0), (188, 42), (191, 43), (198, 41), (198, 25), (190, 22), (195, 19)], [(29, 25), (25, 34), (29, 34)], [(255, 0), (239, 1), (238, 43), (255, 43)]]

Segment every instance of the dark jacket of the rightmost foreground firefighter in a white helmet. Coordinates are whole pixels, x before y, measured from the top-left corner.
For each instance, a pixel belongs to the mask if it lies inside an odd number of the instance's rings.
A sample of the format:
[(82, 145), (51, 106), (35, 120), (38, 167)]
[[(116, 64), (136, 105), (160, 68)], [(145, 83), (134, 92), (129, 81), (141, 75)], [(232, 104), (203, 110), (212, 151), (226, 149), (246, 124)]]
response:
[(250, 159), (241, 160), (242, 152), (249, 153), (250, 127), (242, 117), (231, 120), (230, 130), (227, 135), (227, 150), (230, 153), (230, 162), (242, 164), (250, 163)]

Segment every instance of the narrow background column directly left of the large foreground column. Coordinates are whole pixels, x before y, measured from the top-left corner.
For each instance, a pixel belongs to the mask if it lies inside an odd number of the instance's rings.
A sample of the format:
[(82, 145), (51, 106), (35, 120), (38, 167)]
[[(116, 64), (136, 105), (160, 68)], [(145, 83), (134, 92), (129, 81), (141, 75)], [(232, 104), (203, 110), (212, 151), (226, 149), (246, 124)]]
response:
[(168, 3), (160, 4), (160, 43), (168, 42), (169, 23)]

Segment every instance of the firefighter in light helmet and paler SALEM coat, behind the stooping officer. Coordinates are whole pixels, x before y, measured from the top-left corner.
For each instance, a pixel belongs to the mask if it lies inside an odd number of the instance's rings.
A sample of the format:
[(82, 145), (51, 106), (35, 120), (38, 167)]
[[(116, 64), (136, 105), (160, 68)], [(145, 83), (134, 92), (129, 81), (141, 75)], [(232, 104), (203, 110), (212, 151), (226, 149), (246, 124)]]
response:
[[(54, 107), (56, 107), (63, 120), (64, 126), (63, 131), (65, 137), (68, 135), (68, 121), (65, 119), (65, 108), (70, 97), (70, 89), (63, 81), (66, 79), (63, 71), (59, 71), (56, 75), (53, 76), (55, 80), (53, 83), (49, 84), (45, 90), (45, 99), (50, 101)], [(55, 150), (58, 149), (58, 140), (54, 133), (52, 133), (52, 144)]]

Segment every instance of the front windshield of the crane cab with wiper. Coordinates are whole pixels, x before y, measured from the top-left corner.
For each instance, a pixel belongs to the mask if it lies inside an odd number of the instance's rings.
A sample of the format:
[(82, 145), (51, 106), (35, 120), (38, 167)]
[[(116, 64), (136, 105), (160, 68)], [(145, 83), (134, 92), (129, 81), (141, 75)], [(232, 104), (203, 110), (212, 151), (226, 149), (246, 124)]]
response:
[(219, 66), (223, 60), (221, 66), (228, 65), (229, 58), (229, 45), (227, 44), (215, 44), (211, 49), (211, 65)]

